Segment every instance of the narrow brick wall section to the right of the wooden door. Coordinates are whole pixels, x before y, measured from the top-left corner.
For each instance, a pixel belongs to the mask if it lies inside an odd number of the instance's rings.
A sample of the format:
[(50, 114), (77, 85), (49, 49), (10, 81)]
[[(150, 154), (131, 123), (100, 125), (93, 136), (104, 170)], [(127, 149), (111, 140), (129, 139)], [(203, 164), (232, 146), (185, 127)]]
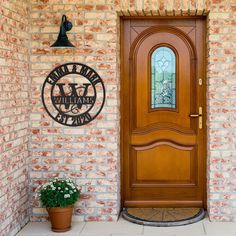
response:
[(236, 1), (212, 0), (208, 17), (208, 212), (236, 221)]

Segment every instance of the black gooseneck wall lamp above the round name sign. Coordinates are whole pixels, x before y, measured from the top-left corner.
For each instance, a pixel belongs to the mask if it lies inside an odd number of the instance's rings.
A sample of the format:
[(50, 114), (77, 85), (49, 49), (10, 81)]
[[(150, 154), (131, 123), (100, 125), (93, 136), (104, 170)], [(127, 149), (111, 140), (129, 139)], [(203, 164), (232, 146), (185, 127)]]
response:
[(57, 40), (54, 44), (51, 45), (51, 47), (66, 47), (66, 48), (72, 48), (74, 45), (69, 41), (66, 31), (70, 31), (72, 29), (72, 23), (67, 20), (66, 16), (63, 15), (61, 19), (61, 27), (60, 32), (57, 37)]

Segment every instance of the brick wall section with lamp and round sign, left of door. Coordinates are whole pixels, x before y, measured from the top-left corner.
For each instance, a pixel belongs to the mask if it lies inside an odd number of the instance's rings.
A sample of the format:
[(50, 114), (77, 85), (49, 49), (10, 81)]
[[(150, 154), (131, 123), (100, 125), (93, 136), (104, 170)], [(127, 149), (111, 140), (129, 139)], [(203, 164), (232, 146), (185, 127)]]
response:
[[(118, 17), (114, 2), (31, 1), (31, 188), (58, 174), (82, 186), (75, 209), (77, 220), (111, 221), (119, 212), (119, 72)], [(68, 36), (73, 49), (53, 49), (61, 17), (73, 23)], [(57, 65), (80, 62), (95, 69), (106, 87), (100, 115), (81, 127), (53, 121), (43, 109), (42, 84)], [(31, 220), (45, 218), (32, 194)]]

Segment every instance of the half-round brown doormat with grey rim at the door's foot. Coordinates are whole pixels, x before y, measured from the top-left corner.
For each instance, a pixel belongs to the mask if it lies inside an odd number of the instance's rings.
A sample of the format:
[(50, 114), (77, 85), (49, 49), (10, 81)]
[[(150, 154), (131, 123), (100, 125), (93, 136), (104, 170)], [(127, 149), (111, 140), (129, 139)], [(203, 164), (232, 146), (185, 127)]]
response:
[(180, 226), (198, 222), (205, 217), (202, 208), (124, 208), (124, 219), (149, 226)]

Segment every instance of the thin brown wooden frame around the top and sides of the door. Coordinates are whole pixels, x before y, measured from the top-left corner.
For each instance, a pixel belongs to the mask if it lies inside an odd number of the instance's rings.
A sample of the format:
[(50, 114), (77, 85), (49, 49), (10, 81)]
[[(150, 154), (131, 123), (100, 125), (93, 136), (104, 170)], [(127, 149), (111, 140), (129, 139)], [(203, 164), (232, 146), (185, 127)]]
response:
[[(206, 103), (206, 97), (207, 97), (207, 90), (206, 90), (206, 16), (174, 16), (174, 17), (165, 17), (165, 16), (120, 16), (120, 187), (121, 187), (121, 209), (124, 207), (124, 145), (123, 145), (123, 139), (124, 139), (124, 117), (125, 117), (125, 110), (126, 110), (126, 104), (125, 104), (125, 93), (124, 93), (124, 39), (123, 35), (125, 34), (124, 29), (124, 21), (125, 20), (132, 20), (132, 19), (142, 19), (142, 20), (188, 20), (188, 19), (202, 19), (204, 20), (204, 34), (202, 35), (202, 42), (203, 43), (203, 65), (202, 65), (202, 71), (203, 71), (203, 78), (202, 78), (202, 89), (203, 89), (203, 127), (204, 129), (204, 185), (203, 185), (203, 206), (204, 209), (207, 209), (207, 129), (206, 129), (206, 121), (207, 121), (207, 103)], [(197, 80), (198, 81), (198, 80)]]

